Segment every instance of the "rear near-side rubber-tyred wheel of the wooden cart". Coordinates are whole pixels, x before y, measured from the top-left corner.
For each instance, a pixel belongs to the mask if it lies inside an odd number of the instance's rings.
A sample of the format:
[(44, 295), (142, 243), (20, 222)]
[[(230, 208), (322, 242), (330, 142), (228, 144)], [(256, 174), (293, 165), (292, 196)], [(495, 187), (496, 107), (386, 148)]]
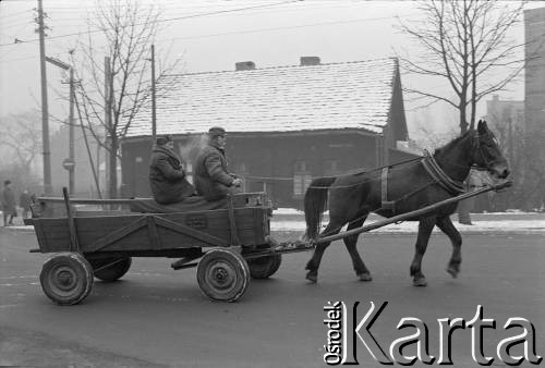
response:
[(44, 263), (39, 281), (51, 300), (59, 305), (74, 305), (89, 294), (93, 268), (80, 254), (61, 253)]

